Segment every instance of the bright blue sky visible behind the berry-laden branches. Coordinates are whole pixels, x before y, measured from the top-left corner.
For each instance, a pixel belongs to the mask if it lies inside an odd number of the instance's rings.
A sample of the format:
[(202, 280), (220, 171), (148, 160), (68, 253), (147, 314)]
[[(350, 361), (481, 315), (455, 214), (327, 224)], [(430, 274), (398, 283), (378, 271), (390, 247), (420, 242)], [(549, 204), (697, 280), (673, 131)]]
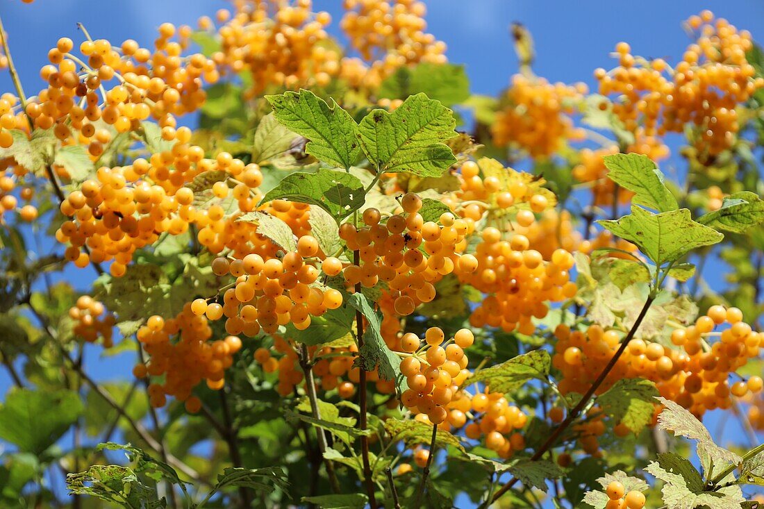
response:
[[(692, 0), (432, 0), (428, 5), (429, 31), (448, 44), (449, 60), (465, 63), (473, 92), (495, 95), (517, 70), (516, 57), (508, 27), (520, 21), (532, 32), (536, 44), (534, 70), (550, 81), (567, 83), (594, 82), (592, 72), (599, 66), (613, 66), (608, 53), (618, 41), (628, 41), (635, 53), (646, 57), (677, 60), (688, 44), (681, 21), (711, 8), (738, 28), (746, 28), (755, 39), (764, 41), (764, 2), (727, 0), (696, 2)], [(342, 17), (341, 0), (316, 0), (316, 9), (328, 10), (333, 26)], [(82, 22), (93, 37), (106, 37), (115, 44), (133, 38), (151, 45), (156, 28), (164, 21), (196, 25), (201, 15), (212, 15), (227, 7), (222, 0), (35, 0), (31, 5), (20, 0), (3, 0), (0, 16), (8, 32), (9, 43), (24, 87), (37, 92), (41, 81), (40, 66), (47, 62), (47, 51), (58, 37), (82, 40), (76, 28)], [(0, 91), (12, 90), (7, 72), (0, 72)], [(670, 159), (664, 166), (681, 166)], [(669, 170), (667, 173), (671, 173)], [(714, 264), (711, 270), (716, 272)], [(67, 271), (76, 286), (86, 287), (92, 271)], [(718, 283), (712, 279), (712, 282)], [(129, 376), (132, 358), (99, 360), (89, 352), (95, 378)], [(0, 372), (0, 398), (9, 381)], [(714, 426), (711, 426), (714, 430)], [(734, 426), (728, 433), (736, 432)]]

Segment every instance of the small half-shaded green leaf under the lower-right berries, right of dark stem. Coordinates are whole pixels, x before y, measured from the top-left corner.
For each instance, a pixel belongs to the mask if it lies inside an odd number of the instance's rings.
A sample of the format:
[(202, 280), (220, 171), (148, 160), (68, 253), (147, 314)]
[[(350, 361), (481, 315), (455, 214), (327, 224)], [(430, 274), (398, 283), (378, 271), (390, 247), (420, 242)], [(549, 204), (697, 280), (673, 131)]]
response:
[(638, 434), (652, 419), (656, 396), (658, 389), (652, 381), (621, 378), (597, 397), (597, 404), (607, 415)]

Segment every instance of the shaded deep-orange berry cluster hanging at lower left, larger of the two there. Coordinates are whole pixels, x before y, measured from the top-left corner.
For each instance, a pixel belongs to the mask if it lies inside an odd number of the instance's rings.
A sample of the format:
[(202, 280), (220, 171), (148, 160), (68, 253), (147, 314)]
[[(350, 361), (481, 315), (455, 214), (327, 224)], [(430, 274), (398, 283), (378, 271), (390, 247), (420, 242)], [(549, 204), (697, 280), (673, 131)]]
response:
[(205, 380), (207, 387), (219, 390), (225, 385), (225, 369), (233, 364), (233, 355), (241, 349), (238, 336), (211, 341), (212, 328), (206, 316), (193, 313), (192, 304), (171, 319), (151, 316), (138, 329), (137, 337), (151, 356), (146, 364), (133, 368), (136, 378), (164, 377), (163, 384), (151, 384), (149, 397), (153, 407), (167, 404), (167, 396), (184, 401), (186, 410), (199, 411), (199, 398), (191, 391)]

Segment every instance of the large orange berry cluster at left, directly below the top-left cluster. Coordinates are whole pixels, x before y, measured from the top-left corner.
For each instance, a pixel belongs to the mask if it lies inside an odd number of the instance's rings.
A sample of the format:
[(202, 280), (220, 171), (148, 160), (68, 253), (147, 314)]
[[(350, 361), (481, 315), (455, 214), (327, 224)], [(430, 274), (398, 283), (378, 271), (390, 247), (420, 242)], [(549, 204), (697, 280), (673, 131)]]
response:
[[(101, 167), (95, 179), (86, 180), (66, 196), (60, 209), (70, 220), (61, 225), (56, 238), (70, 244), (65, 252), (68, 260), (78, 267), (89, 261), (114, 260), (109, 271), (119, 277), (125, 274), (134, 251), (153, 244), (164, 232), (180, 235), (192, 223), (199, 227), (199, 242), (210, 251), (225, 247), (225, 237), (220, 238), (228, 224), (225, 210), (212, 200), (208, 208), (197, 208), (189, 185), (208, 171), (239, 178), (232, 193), (239, 209), (246, 212), (257, 203), (259, 196), (251, 196), (251, 187), (261, 183), (262, 174), (257, 165), (245, 166), (226, 152), (205, 159), (202, 148), (188, 143), (188, 128), (178, 129), (176, 135), (170, 151), (154, 153), (149, 160), (139, 157), (125, 167)], [(212, 199), (219, 201), (229, 191), (225, 181), (215, 183)], [(229, 222), (234, 219), (228, 218)], [(240, 229), (247, 228), (243, 224)]]

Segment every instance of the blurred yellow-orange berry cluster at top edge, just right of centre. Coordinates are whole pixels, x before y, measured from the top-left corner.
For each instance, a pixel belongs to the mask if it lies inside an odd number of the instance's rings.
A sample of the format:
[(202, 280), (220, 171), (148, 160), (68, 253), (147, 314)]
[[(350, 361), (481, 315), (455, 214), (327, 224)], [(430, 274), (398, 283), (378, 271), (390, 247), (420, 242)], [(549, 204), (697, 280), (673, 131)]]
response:
[(426, 33), (426, 6), (416, 0), (345, 0), (340, 28), (363, 60), (342, 59), (340, 75), (351, 85), (376, 86), (400, 66), (445, 63), (445, 43)]

